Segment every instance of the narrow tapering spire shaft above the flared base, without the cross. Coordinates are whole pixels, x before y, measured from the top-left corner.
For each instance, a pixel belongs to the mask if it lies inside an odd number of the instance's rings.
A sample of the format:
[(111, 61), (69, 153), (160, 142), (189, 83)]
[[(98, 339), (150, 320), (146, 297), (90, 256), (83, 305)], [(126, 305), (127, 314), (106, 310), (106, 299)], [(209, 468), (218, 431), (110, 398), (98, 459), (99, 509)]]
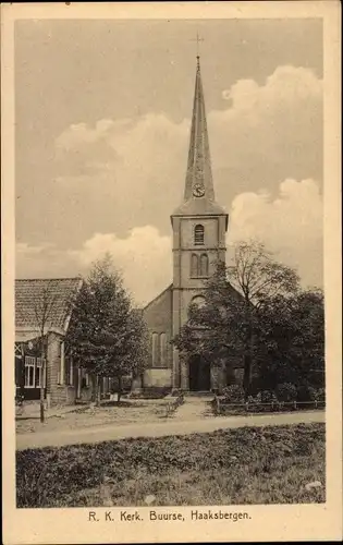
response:
[[(215, 201), (199, 56), (196, 58), (194, 105), (184, 199), (192, 198), (197, 190), (198, 195), (203, 196), (203, 198)], [(201, 195), (203, 193), (204, 195)]]

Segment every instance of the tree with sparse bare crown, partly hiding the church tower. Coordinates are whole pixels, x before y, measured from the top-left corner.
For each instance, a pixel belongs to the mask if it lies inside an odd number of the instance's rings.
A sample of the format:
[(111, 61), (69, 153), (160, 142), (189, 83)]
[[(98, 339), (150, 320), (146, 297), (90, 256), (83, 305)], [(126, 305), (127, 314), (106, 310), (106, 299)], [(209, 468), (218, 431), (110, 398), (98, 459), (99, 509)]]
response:
[(187, 353), (200, 351), (215, 363), (243, 354), (243, 387), (247, 397), (260, 315), (275, 298), (287, 298), (298, 289), (296, 272), (277, 262), (264, 244), (237, 243), (233, 263), (228, 267), (217, 264), (204, 290), (205, 306), (189, 310), (189, 319), (175, 338), (175, 344)]

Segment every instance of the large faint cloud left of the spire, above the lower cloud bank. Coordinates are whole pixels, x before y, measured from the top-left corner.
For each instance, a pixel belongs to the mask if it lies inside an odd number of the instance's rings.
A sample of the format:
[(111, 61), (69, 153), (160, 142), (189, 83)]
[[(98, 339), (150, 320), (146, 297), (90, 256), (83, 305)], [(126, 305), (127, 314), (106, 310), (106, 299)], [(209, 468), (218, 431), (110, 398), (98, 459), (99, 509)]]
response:
[(57, 141), (61, 167), (54, 196), (69, 231), (74, 231), (72, 195), (87, 235), (98, 230), (123, 234), (151, 222), (166, 232), (183, 194), (188, 124), (151, 113), (64, 131)]

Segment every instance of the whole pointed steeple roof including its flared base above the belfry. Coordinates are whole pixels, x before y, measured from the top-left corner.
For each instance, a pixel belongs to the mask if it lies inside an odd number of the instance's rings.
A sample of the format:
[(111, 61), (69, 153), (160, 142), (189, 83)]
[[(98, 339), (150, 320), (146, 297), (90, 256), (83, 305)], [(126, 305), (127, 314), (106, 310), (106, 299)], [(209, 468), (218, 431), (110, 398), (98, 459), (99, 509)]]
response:
[[(199, 189), (200, 196), (194, 195), (194, 190), (196, 187)], [(225, 210), (215, 201), (215, 189), (199, 57), (197, 57), (196, 64), (195, 92), (184, 202), (173, 213), (173, 216), (184, 215), (226, 216)]]

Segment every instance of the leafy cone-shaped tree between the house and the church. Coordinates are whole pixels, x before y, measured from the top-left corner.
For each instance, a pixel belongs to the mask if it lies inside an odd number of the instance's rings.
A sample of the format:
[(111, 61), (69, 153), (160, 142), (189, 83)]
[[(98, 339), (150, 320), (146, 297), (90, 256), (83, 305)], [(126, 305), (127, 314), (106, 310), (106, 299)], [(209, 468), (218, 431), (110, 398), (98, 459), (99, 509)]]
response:
[(91, 375), (98, 404), (100, 377), (117, 378), (120, 399), (123, 376), (136, 373), (145, 364), (145, 324), (108, 255), (93, 265), (73, 302), (65, 341), (73, 359)]

